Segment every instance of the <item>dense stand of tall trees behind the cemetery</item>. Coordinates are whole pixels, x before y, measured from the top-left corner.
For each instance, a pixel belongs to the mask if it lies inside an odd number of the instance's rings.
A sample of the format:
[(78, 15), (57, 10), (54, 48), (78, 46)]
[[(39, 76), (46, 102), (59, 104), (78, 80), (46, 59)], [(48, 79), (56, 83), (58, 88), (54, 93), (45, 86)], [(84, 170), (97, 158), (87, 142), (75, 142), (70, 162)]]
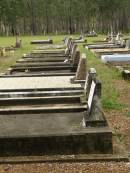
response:
[(128, 32), (129, 0), (0, 0), (0, 34)]

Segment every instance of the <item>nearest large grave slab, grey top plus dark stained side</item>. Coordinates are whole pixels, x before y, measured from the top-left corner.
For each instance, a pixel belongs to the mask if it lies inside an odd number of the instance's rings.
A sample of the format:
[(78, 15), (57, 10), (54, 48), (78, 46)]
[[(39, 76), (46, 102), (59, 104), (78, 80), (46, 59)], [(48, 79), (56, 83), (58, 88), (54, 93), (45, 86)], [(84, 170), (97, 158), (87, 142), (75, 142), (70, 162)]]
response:
[(112, 153), (108, 127), (84, 128), (84, 113), (0, 115), (0, 155)]

